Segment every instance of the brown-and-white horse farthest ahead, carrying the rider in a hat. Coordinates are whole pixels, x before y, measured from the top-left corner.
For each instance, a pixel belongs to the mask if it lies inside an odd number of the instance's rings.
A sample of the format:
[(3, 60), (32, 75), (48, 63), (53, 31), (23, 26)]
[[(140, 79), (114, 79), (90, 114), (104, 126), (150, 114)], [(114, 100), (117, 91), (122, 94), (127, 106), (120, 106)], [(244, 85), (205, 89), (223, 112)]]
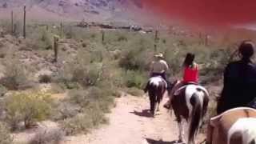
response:
[(145, 93), (148, 91), (150, 96), (150, 113), (154, 117), (155, 108), (159, 110), (160, 102), (162, 101), (163, 94), (166, 92), (167, 83), (161, 76), (152, 77), (146, 84)]

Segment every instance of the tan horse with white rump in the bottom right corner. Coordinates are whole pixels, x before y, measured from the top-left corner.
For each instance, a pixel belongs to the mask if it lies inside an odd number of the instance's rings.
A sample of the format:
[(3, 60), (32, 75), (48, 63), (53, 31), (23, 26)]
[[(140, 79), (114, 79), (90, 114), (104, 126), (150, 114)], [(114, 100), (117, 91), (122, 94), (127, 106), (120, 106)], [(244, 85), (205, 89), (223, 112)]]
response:
[(238, 107), (210, 118), (206, 144), (255, 144), (256, 110)]

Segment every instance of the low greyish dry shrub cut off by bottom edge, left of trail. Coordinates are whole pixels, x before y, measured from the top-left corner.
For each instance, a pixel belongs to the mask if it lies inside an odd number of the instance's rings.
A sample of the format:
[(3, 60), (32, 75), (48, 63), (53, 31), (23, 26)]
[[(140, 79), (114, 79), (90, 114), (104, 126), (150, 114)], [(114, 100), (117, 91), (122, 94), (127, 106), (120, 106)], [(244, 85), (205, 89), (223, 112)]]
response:
[(64, 133), (62, 130), (40, 130), (29, 144), (58, 144), (63, 137)]

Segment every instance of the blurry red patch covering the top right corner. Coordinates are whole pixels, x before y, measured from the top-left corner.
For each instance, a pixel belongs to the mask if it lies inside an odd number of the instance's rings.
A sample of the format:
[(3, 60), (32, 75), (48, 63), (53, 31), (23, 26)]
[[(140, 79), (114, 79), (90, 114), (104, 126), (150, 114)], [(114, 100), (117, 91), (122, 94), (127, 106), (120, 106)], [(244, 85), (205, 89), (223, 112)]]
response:
[(198, 26), (256, 22), (256, 0), (142, 0), (147, 10)]

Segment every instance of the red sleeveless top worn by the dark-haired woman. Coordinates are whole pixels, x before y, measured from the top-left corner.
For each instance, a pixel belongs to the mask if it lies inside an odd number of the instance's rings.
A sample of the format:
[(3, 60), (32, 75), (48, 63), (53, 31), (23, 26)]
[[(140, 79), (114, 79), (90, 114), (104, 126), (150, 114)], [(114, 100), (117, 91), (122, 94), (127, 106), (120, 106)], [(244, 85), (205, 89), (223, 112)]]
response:
[(184, 69), (183, 82), (196, 82), (198, 83), (198, 65), (194, 68), (186, 66)]

